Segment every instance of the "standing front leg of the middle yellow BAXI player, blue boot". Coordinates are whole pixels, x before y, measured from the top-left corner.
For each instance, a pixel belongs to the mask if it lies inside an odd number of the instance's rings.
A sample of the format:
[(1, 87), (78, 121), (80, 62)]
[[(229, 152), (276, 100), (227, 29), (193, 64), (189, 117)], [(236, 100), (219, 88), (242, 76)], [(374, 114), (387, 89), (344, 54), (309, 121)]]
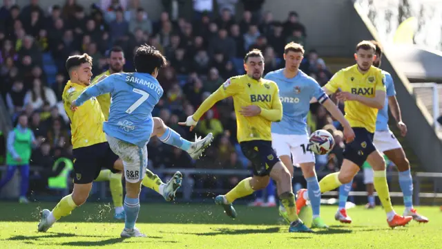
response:
[(287, 167), (280, 161), (273, 165), (270, 172), (271, 178), (276, 181), (279, 199), (287, 210), (287, 216), (290, 222), (289, 232), (313, 232), (307, 228), (296, 214), (295, 195), (291, 189), (291, 175)]

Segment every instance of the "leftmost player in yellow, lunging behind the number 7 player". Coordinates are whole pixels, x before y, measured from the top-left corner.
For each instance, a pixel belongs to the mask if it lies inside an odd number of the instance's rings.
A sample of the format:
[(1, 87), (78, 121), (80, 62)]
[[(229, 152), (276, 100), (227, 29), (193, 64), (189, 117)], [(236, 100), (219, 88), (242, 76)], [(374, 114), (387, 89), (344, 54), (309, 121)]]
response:
[[(116, 173), (123, 170), (123, 162), (113, 153), (106, 141), (103, 131), (104, 116), (96, 98), (84, 102), (75, 111), (71, 103), (90, 85), (92, 77), (92, 57), (87, 54), (74, 55), (66, 60), (66, 69), (70, 80), (66, 83), (62, 95), (64, 109), (70, 119), (74, 156), (74, 190), (64, 196), (52, 210), (43, 210), (38, 225), (39, 232), (46, 232), (55, 221), (67, 216), (72, 210), (86, 202), (92, 182), (97, 178), (102, 167)], [(103, 77), (104, 78), (104, 77)], [(101, 80), (101, 79), (99, 79)], [(154, 131), (155, 136), (158, 136)], [(164, 196), (166, 201), (175, 197), (175, 192), (181, 185), (182, 175), (176, 172), (168, 183), (148, 169), (142, 184)], [(119, 178), (121, 181), (121, 178)]]

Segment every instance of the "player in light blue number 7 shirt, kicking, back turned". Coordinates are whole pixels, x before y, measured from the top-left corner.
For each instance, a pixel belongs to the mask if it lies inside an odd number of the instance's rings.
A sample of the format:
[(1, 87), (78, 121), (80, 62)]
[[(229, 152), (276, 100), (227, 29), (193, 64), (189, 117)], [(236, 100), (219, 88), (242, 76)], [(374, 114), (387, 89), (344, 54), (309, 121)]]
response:
[[(160, 68), (166, 66), (166, 59), (160, 51), (151, 46), (141, 46), (135, 52), (134, 62), (136, 73), (110, 75), (102, 82), (88, 87), (71, 104), (75, 109), (90, 98), (111, 93), (111, 111), (108, 121), (103, 124), (103, 131), (109, 146), (122, 158), (124, 164), (126, 219), (121, 237), (146, 236), (135, 228), (135, 221), (140, 211), (140, 187), (147, 167), (146, 145), (151, 136), (155, 136), (152, 111), (164, 93), (156, 80)], [(197, 142), (193, 152), (202, 152), (209, 146), (211, 139), (212, 136), (206, 136), (201, 142)], [(171, 129), (164, 132), (160, 140), (169, 141), (167, 143), (184, 150), (184, 143), (191, 146), (189, 141), (183, 140)]]

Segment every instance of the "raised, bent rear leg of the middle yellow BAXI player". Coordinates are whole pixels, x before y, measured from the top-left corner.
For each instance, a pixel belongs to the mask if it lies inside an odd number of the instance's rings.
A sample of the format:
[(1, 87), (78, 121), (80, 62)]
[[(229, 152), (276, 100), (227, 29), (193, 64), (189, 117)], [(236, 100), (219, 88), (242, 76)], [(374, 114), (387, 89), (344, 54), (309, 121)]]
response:
[[(259, 188), (260, 190), (265, 188), (265, 186), (267, 186), (264, 185), (263, 183), (267, 184), (269, 183), (268, 176), (264, 177), (253, 176), (253, 178), (255, 178), (253, 181), (255, 185), (257, 185), (257, 183), (262, 185), (262, 187)], [(222, 205), (222, 208), (224, 208), (224, 212), (227, 214), (227, 216), (231, 217), (232, 219), (236, 218), (236, 210), (235, 208), (233, 208), (232, 205), (233, 201), (241, 197), (253, 194), (254, 192), (252, 187), (253, 183), (251, 182), (253, 178), (252, 177), (245, 178), (242, 181), (240, 181), (238, 185), (233, 187), (233, 189), (230, 190), (226, 195), (219, 195), (215, 197), (215, 204)]]

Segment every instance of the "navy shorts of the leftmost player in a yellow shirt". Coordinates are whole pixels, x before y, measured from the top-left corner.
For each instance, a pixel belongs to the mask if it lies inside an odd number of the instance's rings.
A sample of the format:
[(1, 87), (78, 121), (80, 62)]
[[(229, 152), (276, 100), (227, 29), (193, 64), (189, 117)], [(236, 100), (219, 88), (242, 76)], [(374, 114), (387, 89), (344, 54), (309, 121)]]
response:
[(73, 149), (74, 156), (74, 183), (92, 183), (99, 175), (102, 168), (111, 169), (111, 172), (119, 172), (113, 168), (118, 156), (113, 153), (108, 142)]

